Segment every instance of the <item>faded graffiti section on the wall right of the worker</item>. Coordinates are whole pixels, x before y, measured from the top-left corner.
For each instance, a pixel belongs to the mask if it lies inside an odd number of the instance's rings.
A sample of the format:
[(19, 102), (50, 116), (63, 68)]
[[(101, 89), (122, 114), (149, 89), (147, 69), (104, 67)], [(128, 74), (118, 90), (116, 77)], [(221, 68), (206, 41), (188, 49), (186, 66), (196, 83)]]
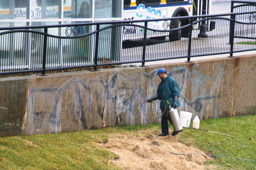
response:
[[(213, 117), (217, 118), (217, 94), (220, 92), (221, 76), (223, 69), (216, 65), (211, 71), (215, 71), (214, 77), (200, 73), (198, 64), (194, 64), (191, 71), (187, 67), (177, 67), (168, 73), (179, 80), (181, 110), (188, 110), (200, 118), (204, 117), (204, 106), (211, 104)], [(188, 85), (189, 83), (189, 85)], [(191, 88), (191, 89), (189, 89)], [(186, 90), (191, 91), (190, 97), (186, 97)]]

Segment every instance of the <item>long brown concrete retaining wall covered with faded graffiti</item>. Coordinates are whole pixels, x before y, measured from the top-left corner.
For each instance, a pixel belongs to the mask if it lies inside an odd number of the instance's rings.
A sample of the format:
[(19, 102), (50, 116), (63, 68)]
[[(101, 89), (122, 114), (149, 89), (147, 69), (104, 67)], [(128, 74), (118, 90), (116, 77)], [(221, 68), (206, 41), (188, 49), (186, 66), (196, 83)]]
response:
[[(159, 122), (159, 67), (179, 83), (180, 110), (200, 119), (255, 115), (256, 55), (45, 77), (0, 78), (0, 136)], [(157, 111), (159, 101), (156, 102)], [(160, 114), (160, 113), (159, 113)]]

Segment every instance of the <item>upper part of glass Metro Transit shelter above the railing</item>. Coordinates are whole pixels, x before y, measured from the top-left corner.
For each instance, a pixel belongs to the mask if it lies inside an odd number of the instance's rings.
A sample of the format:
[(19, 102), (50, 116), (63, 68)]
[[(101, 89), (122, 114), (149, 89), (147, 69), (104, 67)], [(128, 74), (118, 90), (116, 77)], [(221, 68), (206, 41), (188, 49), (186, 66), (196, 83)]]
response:
[(0, 0), (0, 27), (120, 20), (122, 0)]

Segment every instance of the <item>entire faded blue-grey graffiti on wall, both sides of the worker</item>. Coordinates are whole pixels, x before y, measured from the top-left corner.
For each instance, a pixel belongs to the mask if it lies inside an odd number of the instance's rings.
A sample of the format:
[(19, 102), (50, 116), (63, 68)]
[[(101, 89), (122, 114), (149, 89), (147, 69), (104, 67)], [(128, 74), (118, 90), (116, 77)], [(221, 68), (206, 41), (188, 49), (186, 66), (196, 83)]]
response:
[[(216, 74), (209, 77), (197, 71), (197, 67), (195, 64), (191, 70), (175, 67), (168, 71), (180, 86), (180, 109), (202, 118), (208, 104), (216, 117), (216, 93), (220, 88), (222, 68), (214, 66)], [(156, 94), (160, 81), (156, 72), (154, 69), (150, 73), (140, 73), (141, 76), (130, 76), (119, 71), (107, 80), (90, 78), (84, 81), (72, 77), (61, 87), (29, 89), (29, 134), (159, 122), (152, 105), (145, 102)], [(188, 86), (190, 96), (186, 92)], [(159, 102), (156, 105), (159, 111)]]

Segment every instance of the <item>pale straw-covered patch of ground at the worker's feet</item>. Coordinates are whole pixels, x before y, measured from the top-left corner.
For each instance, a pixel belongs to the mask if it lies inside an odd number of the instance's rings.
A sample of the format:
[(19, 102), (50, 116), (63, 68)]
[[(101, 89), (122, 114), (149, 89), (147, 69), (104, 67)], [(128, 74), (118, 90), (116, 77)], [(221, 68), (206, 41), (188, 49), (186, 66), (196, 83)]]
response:
[[(109, 136), (109, 141), (102, 146), (119, 155), (119, 159), (111, 162), (124, 169), (205, 169), (204, 162), (211, 157), (177, 142), (177, 136), (154, 139), (156, 134), (150, 131), (139, 131), (132, 135), (115, 134)], [(153, 139), (155, 145), (152, 144)]]

